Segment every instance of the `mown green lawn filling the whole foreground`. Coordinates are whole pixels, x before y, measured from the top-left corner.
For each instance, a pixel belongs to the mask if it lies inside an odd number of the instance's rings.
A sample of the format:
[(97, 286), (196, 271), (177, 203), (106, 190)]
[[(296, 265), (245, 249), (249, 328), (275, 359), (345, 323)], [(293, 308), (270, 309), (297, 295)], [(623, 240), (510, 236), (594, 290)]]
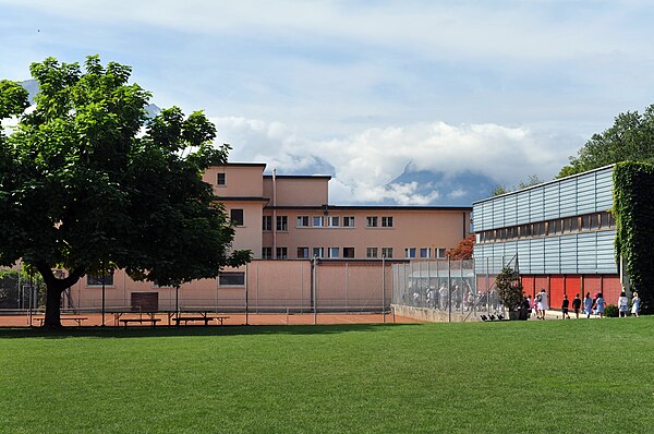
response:
[(0, 329), (2, 433), (654, 430), (654, 317)]

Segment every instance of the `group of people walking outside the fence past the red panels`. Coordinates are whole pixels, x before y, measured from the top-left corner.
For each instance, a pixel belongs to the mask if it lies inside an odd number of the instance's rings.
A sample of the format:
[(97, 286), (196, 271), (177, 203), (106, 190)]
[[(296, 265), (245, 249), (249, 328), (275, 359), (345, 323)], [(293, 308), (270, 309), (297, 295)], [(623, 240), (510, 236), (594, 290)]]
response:
[[(534, 300), (531, 301), (528, 297), (526, 299), (530, 302), (533, 311), (536, 314), (537, 320), (545, 320), (545, 313), (548, 308), (547, 303), (547, 292), (545, 289), (541, 289), (541, 292), (537, 292), (534, 297)], [(591, 293), (586, 292), (583, 301), (579, 298), (579, 294), (574, 296), (572, 300), (572, 312), (579, 318), (579, 313), (582, 312), (581, 308), (583, 305), (583, 314), (586, 315), (586, 318), (590, 318), (592, 314), (600, 315), (600, 317), (604, 317), (604, 310), (606, 308), (606, 300), (602, 297), (602, 292), (595, 294), (594, 298), (591, 298)], [(570, 318), (570, 301), (568, 300), (568, 296), (564, 294), (564, 302), (561, 303), (561, 313), (564, 320)], [(638, 313), (640, 310), (640, 297), (638, 297), (638, 292), (633, 293), (633, 298), (631, 299), (631, 313), (638, 317)], [(620, 317), (627, 317), (629, 314), (629, 298), (626, 292), (622, 291), (620, 297), (618, 298), (618, 312)]]

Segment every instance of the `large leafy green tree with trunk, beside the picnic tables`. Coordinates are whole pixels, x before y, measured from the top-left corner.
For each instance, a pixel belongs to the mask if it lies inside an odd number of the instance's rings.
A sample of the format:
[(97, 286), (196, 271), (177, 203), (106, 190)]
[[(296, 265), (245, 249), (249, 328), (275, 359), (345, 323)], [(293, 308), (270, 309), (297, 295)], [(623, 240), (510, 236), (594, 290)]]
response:
[[(31, 67), (36, 107), (0, 82), (0, 265), (20, 258), (47, 285), (45, 327), (60, 327), (62, 291), (85, 274), (124, 268), (135, 279), (180, 285), (250, 261), (233, 251), (233, 227), (202, 181), (227, 161), (215, 126), (177, 108), (147, 120), (150, 94), (131, 68), (48, 58)], [(58, 278), (53, 269), (68, 269)]]

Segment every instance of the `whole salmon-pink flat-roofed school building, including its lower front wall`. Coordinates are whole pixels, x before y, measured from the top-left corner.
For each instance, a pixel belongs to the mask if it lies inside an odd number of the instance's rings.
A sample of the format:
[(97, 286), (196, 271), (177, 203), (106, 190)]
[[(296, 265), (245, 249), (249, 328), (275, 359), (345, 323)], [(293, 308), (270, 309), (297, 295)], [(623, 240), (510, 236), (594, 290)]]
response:
[[(302, 310), (312, 305), (313, 278), (319, 306), (387, 308), (391, 284), (383, 275), (391, 276), (393, 260), (444, 258), (470, 233), (472, 207), (330, 205), (330, 177), (270, 176), (265, 168), (234, 162), (203, 176), (235, 224), (233, 249), (253, 252), (249, 266), (179, 291), (133, 281), (122, 270), (86, 276), (70, 289), (68, 308)], [(313, 256), (323, 264), (312, 277)]]

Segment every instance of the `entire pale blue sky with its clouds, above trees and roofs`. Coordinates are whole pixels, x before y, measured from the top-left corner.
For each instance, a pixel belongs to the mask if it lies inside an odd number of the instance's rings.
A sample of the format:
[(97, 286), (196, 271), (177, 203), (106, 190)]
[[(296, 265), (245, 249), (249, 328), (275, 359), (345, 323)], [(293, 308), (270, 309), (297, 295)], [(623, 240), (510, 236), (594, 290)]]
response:
[(432, 201), (407, 164), (554, 177), (654, 103), (649, 1), (0, 0), (0, 79), (53, 56), (133, 67), (160, 107), (204, 109), (232, 159), (334, 167), (331, 202)]

